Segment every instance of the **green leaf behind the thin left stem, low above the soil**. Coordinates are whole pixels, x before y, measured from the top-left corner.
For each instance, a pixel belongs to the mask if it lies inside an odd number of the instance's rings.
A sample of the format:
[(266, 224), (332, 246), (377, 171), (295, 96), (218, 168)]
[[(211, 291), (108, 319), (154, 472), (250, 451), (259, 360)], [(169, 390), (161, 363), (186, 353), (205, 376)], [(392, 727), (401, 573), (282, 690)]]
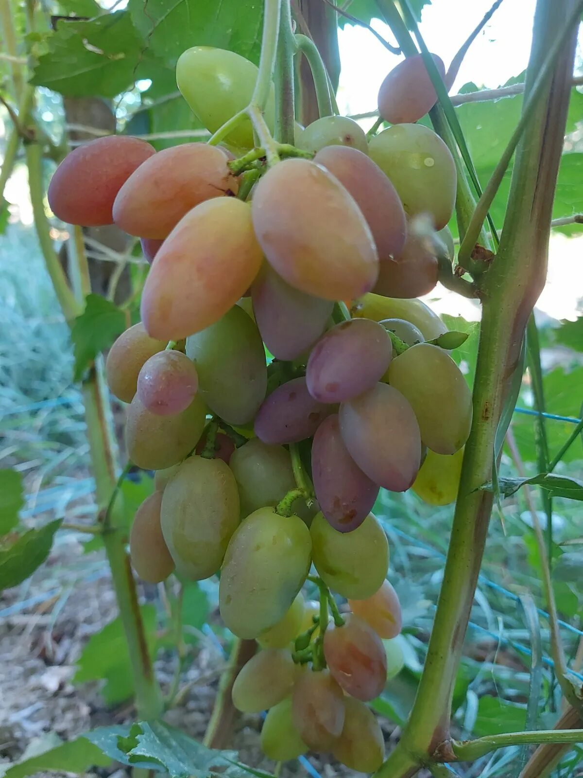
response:
[[(152, 654), (155, 645), (155, 607), (144, 605), (140, 610), (148, 650)], [(105, 681), (103, 699), (108, 705), (129, 699), (134, 691), (130, 654), (119, 616), (89, 638), (79, 657), (73, 681), (82, 683), (102, 679)]]

